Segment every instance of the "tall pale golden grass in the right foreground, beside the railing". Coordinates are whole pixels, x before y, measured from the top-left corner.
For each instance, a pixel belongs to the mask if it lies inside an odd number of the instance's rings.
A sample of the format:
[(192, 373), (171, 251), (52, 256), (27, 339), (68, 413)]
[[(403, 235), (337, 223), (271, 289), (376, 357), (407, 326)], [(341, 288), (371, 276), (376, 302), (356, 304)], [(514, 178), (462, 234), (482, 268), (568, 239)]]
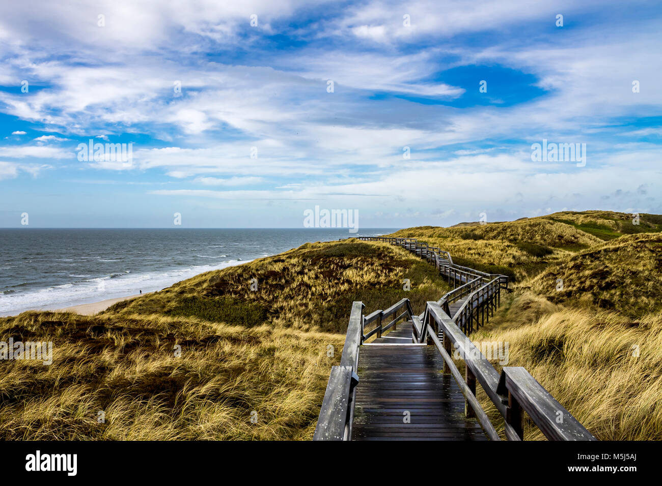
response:
[[(530, 292), (504, 304), (473, 341), (508, 342), (508, 366), (524, 366), (598, 439), (662, 440), (662, 313), (634, 320), (565, 309)], [(479, 399), (502, 424), (484, 393)], [(524, 433), (544, 438), (530, 421)]]

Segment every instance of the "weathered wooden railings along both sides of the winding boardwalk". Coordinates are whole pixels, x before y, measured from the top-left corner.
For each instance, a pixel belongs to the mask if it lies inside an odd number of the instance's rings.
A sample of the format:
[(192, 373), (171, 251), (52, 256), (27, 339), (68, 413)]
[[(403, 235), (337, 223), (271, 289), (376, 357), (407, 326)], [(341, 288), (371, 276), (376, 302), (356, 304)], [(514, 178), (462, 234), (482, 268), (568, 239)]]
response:
[[(438, 248), (420, 245), (412, 238), (361, 237), (366, 241), (386, 241), (415, 252), (440, 267), (439, 255), (445, 253), (448, 265), (453, 266), (450, 255)], [(454, 266), (453, 282), (461, 284), (448, 292), (439, 302), (428, 302), (425, 311), (414, 315), (408, 299), (402, 299), (385, 311), (377, 310), (363, 317), (361, 302), (352, 304), (350, 324), (340, 366), (333, 366), (324, 394), (324, 401), (315, 428), (313, 440), (350, 440), (354, 419), (355, 386), (359, 382), (357, 366), (359, 347), (369, 337), (387, 331), (398, 321), (412, 323), (414, 343), (434, 344), (444, 358), (444, 373), (452, 374), (465, 397), (465, 414), (476, 417), (485, 434), (492, 440), (500, 440), (495, 426), (476, 398), (476, 385), (483, 387), (486, 395), (504, 419), (504, 434), (508, 440), (523, 440), (523, 412), (540, 428), (549, 440), (596, 440), (575, 417), (569, 413), (547, 390), (522, 367), (505, 366), (499, 374), (485, 358), (481, 350), (467, 337), (467, 333), (489, 319), (500, 303), (500, 290), (508, 288), (508, 277), (485, 274), (471, 268)], [(463, 273), (465, 272), (465, 273)], [(471, 275), (467, 280), (464, 276)], [(456, 278), (459, 276), (459, 278)], [(462, 280), (467, 280), (462, 283)], [(505, 287), (504, 287), (505, 284)], [(455, 313), (449, 316), (449, 303), (465, 299)], [(390, 321), (384, 324), (385, 320)], [(371, 331), (368, 325), (376, 323)], [(464, 331), (464, 332), (463, 332)], [(467, 332), (468, 331), (468, 332)], [(455, 366), (451, 347), (465, 362), (464, 378)]]

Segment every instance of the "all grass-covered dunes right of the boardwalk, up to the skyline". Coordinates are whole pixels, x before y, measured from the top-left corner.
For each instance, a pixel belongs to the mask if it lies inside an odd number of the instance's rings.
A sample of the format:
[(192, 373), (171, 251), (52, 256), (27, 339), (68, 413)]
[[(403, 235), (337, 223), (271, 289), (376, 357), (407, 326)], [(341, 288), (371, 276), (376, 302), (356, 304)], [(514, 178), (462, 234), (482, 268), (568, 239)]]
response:
[[(561, 212), (395, 234), (515, 276), (514, 292), (471, 339), (508, 343), (508, 366), (524, 366), (600, 440), (662, 440), (661, 223), (655, 214), (637, 225), (632, 214)], [(531, 421), (525, 430), (544, 438)]]

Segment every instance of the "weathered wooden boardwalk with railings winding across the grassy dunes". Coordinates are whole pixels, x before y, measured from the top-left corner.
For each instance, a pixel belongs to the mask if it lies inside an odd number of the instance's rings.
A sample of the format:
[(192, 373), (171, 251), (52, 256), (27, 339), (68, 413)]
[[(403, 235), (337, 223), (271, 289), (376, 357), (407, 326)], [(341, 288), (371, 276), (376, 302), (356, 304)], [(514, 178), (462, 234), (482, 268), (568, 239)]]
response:
[(529, 372), (518, 366), (497, 372), (467, 337), (489, 322), (508, 289), (507, 276), (454, 264), (447, 251), (416, 239), (359, 239), (399, 245), (426, 259), (453, 290), (427, 302), (420, 315), (408, 299), (369, 315), (362, 302), (352, 303), (314, 440), (501, 440), (476, 398), (477, 386), (504, 419), (508, 440), (523, 440), (525, 412), (549, 440), (595, 440)]

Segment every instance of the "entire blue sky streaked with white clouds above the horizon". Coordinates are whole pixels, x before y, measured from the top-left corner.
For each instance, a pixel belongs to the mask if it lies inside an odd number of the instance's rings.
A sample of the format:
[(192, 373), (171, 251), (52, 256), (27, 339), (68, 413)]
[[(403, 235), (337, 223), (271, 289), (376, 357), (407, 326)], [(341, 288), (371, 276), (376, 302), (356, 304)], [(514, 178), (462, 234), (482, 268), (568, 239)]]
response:
[(58, 4), (0, 5), (0, 227), (662, 213), (658, 2)]

